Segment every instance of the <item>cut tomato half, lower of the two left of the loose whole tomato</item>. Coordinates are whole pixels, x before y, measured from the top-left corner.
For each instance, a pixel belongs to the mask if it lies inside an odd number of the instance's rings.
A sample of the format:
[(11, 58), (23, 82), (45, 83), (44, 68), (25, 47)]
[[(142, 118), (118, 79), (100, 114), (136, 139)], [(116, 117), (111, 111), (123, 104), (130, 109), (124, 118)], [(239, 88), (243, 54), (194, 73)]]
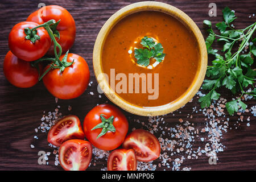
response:
[(59, 161), (65, 171), (84, 171), (92, 160), (92, 144), (85, 140), (72, 139), (61, 144)]

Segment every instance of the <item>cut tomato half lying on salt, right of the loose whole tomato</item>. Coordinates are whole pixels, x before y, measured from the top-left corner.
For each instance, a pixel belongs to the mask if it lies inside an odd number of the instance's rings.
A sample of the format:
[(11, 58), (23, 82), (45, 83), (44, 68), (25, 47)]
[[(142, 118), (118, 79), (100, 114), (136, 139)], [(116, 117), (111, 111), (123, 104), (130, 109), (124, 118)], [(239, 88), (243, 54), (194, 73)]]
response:
[(150, 162), (160, 156), (160, 143), (150, 132), (142, 129), (134, 130), (127, 135), (123, 142), (123, 148), (133, 149), (136, 158), (142, 162)]

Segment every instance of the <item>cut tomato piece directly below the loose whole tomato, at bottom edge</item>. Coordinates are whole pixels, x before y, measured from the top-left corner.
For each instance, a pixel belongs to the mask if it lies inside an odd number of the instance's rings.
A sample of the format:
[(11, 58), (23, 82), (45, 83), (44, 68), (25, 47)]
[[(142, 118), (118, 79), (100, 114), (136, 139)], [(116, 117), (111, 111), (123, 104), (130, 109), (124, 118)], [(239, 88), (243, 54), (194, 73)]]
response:
[(110, 153), (108, 171), (136, 171), (137, 160), (133, 150), (117, 149)]

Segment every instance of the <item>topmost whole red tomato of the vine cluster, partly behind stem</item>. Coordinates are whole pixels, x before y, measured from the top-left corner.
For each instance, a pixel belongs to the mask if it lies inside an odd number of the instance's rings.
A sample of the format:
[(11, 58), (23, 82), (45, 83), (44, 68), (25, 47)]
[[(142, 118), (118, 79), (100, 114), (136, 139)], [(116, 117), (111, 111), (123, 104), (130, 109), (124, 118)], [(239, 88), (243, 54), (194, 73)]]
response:
[[(76, 37), (75, 20), (66, 9), (57, 5), (45, 6), (29, 15), (27, 21), (43, 24), (51, 19), (56, 20), (56, 22), (60, 20), (56, 27), (56, 30), (60, 33), (60, 39), (56, 38), (56, 40), (62, 47), (63, 53), (65, 53), (73, 46)], [(48, 54), (54, 55), (53, 43)]]

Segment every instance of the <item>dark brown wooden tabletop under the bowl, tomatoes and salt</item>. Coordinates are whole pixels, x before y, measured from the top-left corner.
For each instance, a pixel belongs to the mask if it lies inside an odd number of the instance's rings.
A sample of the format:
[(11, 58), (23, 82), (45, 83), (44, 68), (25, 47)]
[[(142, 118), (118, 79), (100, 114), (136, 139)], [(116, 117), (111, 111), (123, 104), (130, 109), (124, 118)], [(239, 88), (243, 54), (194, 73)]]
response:
[[(79, 116), (81, 121), (85, 114), (96, 104), (104, 103), (108, 100), (104, 95), (102, 98), (90, 96), (89, 92), (96, 92), (97, 82), (93, 73), (92, 53), (94, 41), (106, 20), (130, 3), (138, 1), (117, 0), (117, 1), (0, 1), (0, 169), (2, 170), (56, 170), (60, 166), (54, 166), (54, 159), (49, 160), (49, 165), (38, 164), (38, 151), (50, 151), (47, 143), (47, 135), (38, 133), (39, 139), (35, 141), (34, 129), (40, 125), (40, 119), (43, 111), (53, 111), (56, 108), (55, 98), (48, 93), (42, 82), (29, 89), (15, 88), (9, 84), (3, 75), (3, 59), (9, 51), (8, 35), (11, 28), (19, 22), (26, 20), (27, 16), (38, 8), (38, 3), (44, 2), (46, 5), (60, 5), (65, 7), (76, 21), (76, 41), (70, 52), (77, 53), (84, 57), (89, 64), (91, 77), (93, 81), (91, 87), (85, 91), (82, 96), (73, 100), (59, 100), (57, 105), (61, 106), (63, 114), (68, 114), (68, 105), (72, 106), (72, 114)], [(213, 1), (162, 1), (169, 3), (188, 14), (199, 26), (203, 35), (207, 33), (203, 29), (203, 20), (209, 19), (213, 23), (222, 20), (221, 10), (225, 6), (236, 11), (236, 27), (244, 28), (255, 22), (255, 17), (249, 18), (255, 12), (256, 1), (214, 1), (217, 4), (217, 17), (208, 16), (208, 5)], [(217, 46), (217, 45), (214, 45)], [(225, 98), (233, 97), (229, 92), (223, 91)], [(256, 104), (254, 100), (247, 101), (246, 104), (251, 107)], [(192, 112), (192, 107), (199, 107), (197, 99), (188, 103), (181, 114), (175, 116), (167, 115), (168, 125), (175, 126), (179, 118), (186, 118), (188, 113)], [(130, 119), (130, 128), (133, 127), (133, 119), (138, 118), (147, 121), (146, 117), (138, 117), (126, 113)], [(193, 170), (237, 170), (237, 169), (256, 169), (256, 119), (251, 113), (250, 127), (246, 122), (242, 123), (240, 129), (230, 130), (224, 134), (222, 143), (227, 147), (224, 152), (218, 154), (217, 165), (209, 165), (208, 158), (201, 156), (197, 160), (186, 160), (183, 166), (191, 167)], [(234, 123), (238, 116), (231, 117)], [(201, 125), (204, 123), (203, 114), (194, 114), (189, 121)], [(31, 148), (34, 143), (36, 148)], [(53, 158), (53, 157), (52, 157)], [(99, 163), (104, 163), (105, 160)], [(89, 169), (100, 169), (100, 165), (91, 166)], [(164, 168), (160, 168), (164, 169)]]

